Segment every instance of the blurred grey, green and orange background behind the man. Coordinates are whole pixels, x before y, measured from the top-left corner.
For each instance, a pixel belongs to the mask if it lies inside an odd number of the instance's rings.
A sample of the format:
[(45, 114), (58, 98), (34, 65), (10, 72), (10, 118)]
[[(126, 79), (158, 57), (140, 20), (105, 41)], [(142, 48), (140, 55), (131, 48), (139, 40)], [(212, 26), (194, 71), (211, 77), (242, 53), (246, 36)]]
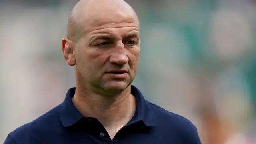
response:
[[(140, 18), (133, 84), (202, 144), (256, 144), (256, 0), (126, 0)], [(0, 0), (0, 143), (75, 85), (62, 56), (77, 0)]]

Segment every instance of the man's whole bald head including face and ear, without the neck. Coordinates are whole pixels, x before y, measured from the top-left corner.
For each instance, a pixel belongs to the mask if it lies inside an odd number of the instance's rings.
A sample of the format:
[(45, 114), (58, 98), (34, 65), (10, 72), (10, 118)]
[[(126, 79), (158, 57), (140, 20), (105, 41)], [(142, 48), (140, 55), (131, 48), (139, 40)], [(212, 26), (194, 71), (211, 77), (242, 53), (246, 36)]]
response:
[(70, 13), (62, 51), (75, 68), (77, 84), (118, 94), (138, 68), (138, 17), (123, 0), (80, 0)]

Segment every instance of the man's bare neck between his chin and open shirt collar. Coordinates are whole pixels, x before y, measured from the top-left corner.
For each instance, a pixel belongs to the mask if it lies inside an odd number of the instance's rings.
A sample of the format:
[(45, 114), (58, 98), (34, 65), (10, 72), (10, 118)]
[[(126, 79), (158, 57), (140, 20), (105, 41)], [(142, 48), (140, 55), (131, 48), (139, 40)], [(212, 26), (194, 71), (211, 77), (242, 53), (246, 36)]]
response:
[(76, 86), (72, 101), (81, 114), (97, 118), (105, 128), (120, 126), (132, 118), (136, 109), (130, 90), (131, 86), (116, 96), (102, 96)]

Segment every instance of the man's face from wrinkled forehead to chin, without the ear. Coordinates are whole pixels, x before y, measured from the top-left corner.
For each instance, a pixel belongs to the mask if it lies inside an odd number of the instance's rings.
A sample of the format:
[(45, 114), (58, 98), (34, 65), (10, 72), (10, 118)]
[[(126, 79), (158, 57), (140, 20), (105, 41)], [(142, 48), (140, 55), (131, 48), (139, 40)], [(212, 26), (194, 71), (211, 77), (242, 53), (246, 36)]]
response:
[(75, 70), (94, 90), (121, 92), (137, 72), (139, 26), (134, 13), (109, 13), (94, 14), (83, 26), (84, 34), (74, 48)]

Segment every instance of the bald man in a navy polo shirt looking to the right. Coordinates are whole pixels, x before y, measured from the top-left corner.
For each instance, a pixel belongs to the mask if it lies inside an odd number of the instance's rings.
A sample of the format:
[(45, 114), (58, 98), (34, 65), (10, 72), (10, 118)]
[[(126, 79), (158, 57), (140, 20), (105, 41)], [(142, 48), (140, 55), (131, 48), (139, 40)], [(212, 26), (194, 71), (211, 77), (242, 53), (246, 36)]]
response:
[(11, 132), (4, 144), (200, 144), (185, 118), (145, 100), (131, 83), (139, 21), (122, 0), (80, 0), (62, 40), (76, 87), (62, 104)]

